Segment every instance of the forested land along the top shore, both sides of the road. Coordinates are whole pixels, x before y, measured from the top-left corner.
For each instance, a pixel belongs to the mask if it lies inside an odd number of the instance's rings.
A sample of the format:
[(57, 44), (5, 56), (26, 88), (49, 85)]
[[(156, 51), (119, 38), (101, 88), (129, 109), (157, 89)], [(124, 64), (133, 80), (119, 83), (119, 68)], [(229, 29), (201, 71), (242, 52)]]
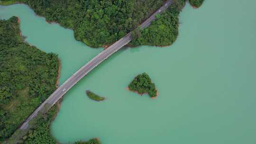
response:
[[(74, 30), (74, 37), (91, 47), (111, 45), (133, 31), (129, 46), (174, 43), (178, 36), (179, 13), (185, 0), (173, 4), (144, 30), (139, 24), (165, 0), (1, 0), (0, 4), (25, 3), (48, 22)], [(199, 7), (203, 0), (189, 0)], [(137, 28), (138, 27), (138, 28)], [(136, 29), (137, 28), (137, 29)]]

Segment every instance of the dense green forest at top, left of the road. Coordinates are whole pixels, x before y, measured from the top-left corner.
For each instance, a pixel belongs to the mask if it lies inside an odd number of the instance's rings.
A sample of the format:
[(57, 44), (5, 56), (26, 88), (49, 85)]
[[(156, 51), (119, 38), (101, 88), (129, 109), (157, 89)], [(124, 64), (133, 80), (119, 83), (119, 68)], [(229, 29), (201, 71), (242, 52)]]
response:
[(49, 22), (74, 30), (92, 47), (109, 45), (136, 28), (164, 0), (17, 0)]

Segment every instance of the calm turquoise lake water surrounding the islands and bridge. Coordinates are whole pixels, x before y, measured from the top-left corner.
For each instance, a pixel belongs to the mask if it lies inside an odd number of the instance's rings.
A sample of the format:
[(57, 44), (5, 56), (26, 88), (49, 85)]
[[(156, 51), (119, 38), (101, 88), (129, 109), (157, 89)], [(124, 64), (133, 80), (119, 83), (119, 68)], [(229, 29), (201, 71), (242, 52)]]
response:
[[(68, 91), (52, 135), (61, 144), (93, 137), (102, 144), (256, 144), (255, 15), (255, 0), (187, 4), (174, 45), (122, 49)], [(0, 6), (1, 19), (11, 16), (30, 45), (59, 55), (60, 83), (103, 50), (26, 5)], [(126, 90), (142, 72), (155, 82), (157, 99)], [(92, 101), (86, 90), (107, 99)]]

